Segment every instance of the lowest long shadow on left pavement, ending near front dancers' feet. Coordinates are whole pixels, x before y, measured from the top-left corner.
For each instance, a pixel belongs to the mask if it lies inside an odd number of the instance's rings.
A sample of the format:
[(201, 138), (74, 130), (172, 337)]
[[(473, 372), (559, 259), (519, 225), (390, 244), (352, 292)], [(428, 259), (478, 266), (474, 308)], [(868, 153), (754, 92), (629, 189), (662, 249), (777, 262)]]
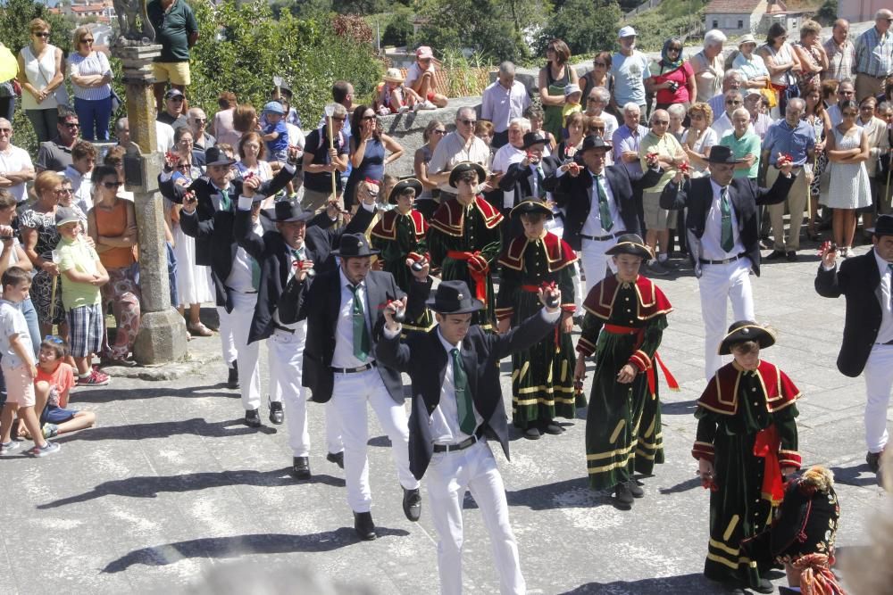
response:
[[(409, 534), (403, 529), (377, 527), (376, 530), (379, 537), (391, 535), (405, 537)], [(126, 556), (110, 562), (101, 572), (120, 573), (137, 564), (167, 566), (185, 558), (238, 558), (251, 554), (332, 551), (358, 541), (354, 529), (347, 527), (309, 535), (261, 533), (232, 537), (205, 537), (133, 550)]]

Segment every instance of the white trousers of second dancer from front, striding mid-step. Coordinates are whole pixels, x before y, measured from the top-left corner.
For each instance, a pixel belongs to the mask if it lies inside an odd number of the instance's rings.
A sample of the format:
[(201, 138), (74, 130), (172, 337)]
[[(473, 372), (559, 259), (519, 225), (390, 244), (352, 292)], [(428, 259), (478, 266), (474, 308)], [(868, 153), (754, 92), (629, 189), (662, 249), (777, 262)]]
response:
[(347, 504), (354, 512), (369, 512), (372, 493), (369, 488), (369, 421), (366, 402), (372, 406), (385, 434), (391, 441), (400, 485), (407, 490), (419, 487), (409, 470), (409, 422), (403, 403), (391, 399), (376, 368), (356, 374), (335, 374), (331, 401), (341, 420), (344, 440), (344, 475), (347, 483)]

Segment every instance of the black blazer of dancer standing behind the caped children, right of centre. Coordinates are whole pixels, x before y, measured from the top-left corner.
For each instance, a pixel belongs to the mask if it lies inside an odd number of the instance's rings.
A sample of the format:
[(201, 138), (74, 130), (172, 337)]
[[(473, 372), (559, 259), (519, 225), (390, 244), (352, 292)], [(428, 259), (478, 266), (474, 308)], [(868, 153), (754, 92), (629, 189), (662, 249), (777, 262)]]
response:
[[(576, 178), (566, 172), (561, 178), (556, 178), (555, 173), (547, 176), (543, 186), (554, 193), (558, 206), (566, 209), (563, 240), (571, 244), (574, 250), (580, 250), (580, 233), (589, 216), (589, 189), (592, 187), (592, 175), (585, 166)], [(610, 165), (604, 169), (604, 173), (617, 203), (617, 210), (620, 211), (623, 227), (629, 234), (641, 235), (636, 191), (657, 184), (661, 178), (660, 169), (648, 169), (641, 174), (630, 174), (622, 165)], [(638, 200), (641, 201), (641, 198)]]

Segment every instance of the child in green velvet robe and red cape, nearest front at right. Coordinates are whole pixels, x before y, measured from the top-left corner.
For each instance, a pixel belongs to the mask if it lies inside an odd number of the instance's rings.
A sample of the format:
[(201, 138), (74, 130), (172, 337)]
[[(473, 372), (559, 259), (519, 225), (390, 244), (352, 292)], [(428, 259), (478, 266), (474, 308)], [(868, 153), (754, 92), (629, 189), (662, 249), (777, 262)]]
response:
[[(775, 335), (755, 322), (729, 327), (720, 355), (734, 361), (716, 371), (697, 400), (691, 450), (710, 492), (710, 541), (704, 574), (731, 589), (774, 588), (742, 541), (761, 533), (784, 498), (784, 481), (800, 467), (797, 405), (800, 391), (778, 367), (760, 359)], [(761, 573), (761, 570), (764, 572)]]

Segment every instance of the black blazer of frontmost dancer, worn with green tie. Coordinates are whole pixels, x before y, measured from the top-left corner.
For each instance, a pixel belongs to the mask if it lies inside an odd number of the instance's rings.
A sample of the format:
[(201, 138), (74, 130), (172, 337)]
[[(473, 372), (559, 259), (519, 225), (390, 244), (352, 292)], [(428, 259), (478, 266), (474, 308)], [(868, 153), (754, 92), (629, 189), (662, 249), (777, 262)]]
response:
[[(508, 423), (499, 385), (499, 360), (538, 343), (553, 331), (556, 324), (557, 320), (546, 322), (537, 312), (505, 335), (485, 333), (475, 325), (463, 339), (460, 352), (474, 409), (484, 419), (484, 433), (502, 444), (506, 459), (509, 457)], [(447, 351), (440, 343), (438, 327), (428, 333), (413, 333), (403, 342), (398, 336), (388, 339), (381, 335), (375, 347), (375, 357), (388, 368), (405, 372), (412, 379), (409, 468), (416, 479), (421, 479), (434, 451), (430, 415), (440, 402), (440, 387), (447, 373)]]

